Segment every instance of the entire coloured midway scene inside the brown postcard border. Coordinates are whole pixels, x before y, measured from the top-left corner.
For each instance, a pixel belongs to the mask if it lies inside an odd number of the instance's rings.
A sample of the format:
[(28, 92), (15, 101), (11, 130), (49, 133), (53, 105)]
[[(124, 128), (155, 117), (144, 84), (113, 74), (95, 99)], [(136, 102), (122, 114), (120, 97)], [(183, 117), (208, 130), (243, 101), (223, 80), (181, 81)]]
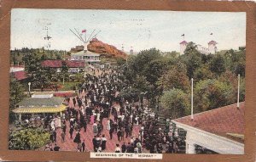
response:
[(244, 12), (14, 8), (10, 47), (10, 150), (244, 154)]

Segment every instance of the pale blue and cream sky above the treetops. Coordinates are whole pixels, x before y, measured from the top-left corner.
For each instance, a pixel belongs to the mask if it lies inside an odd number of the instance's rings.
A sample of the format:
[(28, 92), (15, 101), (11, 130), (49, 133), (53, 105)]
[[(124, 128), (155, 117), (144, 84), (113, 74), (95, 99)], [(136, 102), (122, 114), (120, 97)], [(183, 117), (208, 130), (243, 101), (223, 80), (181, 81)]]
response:
[[(100, 31), (96, 38), (125, 51), (139, 52), (156, 47), (163, 52), (179, 52), (179, 42), (195, 42), (207, 47), (218, 42), (218, 50), (246, 45), (246, 13), (135, 11), (90, 9), (28, 9), (11, 12), (11, 49), (46, 47), (67, 50), (83, 45), (70, 29), (86, 36)], [(96, 33), (96, 32), (95, 32)], [(210, 35), (212, 33), (212, 35)]]

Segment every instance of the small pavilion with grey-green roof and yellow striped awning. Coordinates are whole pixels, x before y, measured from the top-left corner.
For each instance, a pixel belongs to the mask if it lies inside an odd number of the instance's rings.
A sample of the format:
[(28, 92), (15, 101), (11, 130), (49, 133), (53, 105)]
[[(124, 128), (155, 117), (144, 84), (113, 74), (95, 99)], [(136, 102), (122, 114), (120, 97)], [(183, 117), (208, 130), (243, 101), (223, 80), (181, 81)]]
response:
[(21, 120), (22, 114), (56, 114), (66, 110), (67, 104), (64, 98), (53, 97), (53, 94), (33, 94), (32, 98), (25, 98), (16, 104), (15, 114), (19, 115)]

